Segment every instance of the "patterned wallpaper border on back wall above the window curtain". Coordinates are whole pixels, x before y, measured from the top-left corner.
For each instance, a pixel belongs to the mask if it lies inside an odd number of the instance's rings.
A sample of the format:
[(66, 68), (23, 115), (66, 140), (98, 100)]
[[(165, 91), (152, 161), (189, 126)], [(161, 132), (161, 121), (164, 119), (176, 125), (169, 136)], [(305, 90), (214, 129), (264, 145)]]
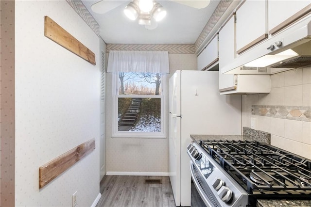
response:
[(140, 50), (140, 51), (168, 51), (169, 53), (193, 54), (193, 44), (107, 44), (106, 52), (109, 50)]

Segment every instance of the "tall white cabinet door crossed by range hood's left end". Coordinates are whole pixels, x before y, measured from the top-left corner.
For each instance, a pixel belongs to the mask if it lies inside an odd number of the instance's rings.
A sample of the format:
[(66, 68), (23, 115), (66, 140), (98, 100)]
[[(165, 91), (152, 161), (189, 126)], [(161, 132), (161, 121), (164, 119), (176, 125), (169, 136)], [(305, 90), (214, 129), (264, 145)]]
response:
[(233, 74), (222, 74), (221, 69), (235, 58), (235, 16), (232, 16), (219, 31), (219, 90), (235, 87)]

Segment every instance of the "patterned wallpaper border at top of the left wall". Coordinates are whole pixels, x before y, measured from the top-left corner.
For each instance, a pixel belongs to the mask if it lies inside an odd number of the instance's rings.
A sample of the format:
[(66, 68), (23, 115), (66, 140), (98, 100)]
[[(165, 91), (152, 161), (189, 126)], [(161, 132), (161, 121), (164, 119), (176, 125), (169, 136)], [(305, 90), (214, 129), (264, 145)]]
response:
[(97, 36), (99, 33), (99, 24), (94, 17), (86, 9), (86, 6), (81, 0), (66, 0), (76, 13), (86, 22), (86, 24), (95, 32)]

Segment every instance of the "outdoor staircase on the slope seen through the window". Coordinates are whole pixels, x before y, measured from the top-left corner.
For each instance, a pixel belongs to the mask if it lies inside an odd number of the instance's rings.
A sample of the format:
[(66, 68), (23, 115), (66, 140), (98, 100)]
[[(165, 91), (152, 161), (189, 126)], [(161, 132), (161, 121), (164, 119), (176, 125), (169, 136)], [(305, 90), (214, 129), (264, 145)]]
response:
[(141, 98), (133, 98), (132, 103), (121, 119), (120, 126), (134, 126), (140, 110)]

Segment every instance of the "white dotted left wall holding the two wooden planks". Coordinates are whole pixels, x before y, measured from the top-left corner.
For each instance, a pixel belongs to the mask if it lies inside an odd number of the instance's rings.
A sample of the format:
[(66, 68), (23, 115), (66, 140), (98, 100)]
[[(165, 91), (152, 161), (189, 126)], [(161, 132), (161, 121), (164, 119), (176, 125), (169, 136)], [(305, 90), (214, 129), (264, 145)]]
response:
[[(64, 1), (16, 1), (16, 206), (91, 206), (99, 148), (39, 190), (38, 169), (71, 148), (99, 143), (99, 38)], [(92, 65), (44, 36), (44, 16), (96, 54)]]

